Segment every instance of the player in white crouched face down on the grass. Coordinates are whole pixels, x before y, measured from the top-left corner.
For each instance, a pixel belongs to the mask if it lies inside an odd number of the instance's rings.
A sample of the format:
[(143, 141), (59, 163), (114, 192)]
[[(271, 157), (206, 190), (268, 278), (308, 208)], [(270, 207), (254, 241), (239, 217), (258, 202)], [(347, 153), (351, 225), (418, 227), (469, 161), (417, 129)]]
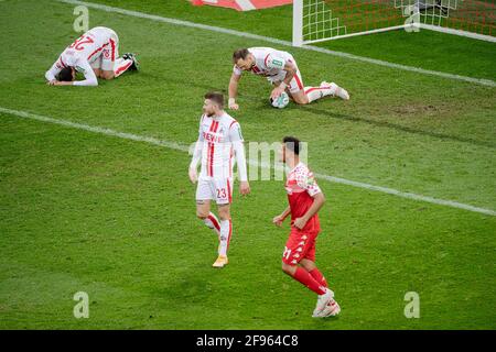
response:
[[(45, 78), (51, 86), (98, 86), (98, 79), (112, 79), (127, 70), (138, 70), (132, 53), (119, 57), (119, 37), (105, 26), (96, 26), (67, 46)], [(85, 76), (75, 80), (76, 73)]]

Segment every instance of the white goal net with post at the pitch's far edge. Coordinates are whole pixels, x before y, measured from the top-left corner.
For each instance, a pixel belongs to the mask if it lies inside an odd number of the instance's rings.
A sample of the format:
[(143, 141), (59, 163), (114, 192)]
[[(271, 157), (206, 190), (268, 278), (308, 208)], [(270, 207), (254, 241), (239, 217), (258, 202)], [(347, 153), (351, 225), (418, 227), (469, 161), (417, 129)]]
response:
[(496, 42), (496, 0), (294, 0), (293, 45), (420, 29)]

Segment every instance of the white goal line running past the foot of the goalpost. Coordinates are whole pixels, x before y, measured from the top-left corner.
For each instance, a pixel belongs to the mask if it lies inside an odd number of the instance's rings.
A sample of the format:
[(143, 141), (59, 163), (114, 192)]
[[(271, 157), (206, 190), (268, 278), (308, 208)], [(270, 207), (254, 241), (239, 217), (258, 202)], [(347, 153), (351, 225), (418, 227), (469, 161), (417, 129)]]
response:
[[(169, 23), (169, 24), (201, 29), (204, 31), (236, 35), (236, 36), (240, 36), (240, 37), (268, 42), (268, 43), (272, 43), (272, 44), (279, 44), (282, 46), (291, 46), (291, 47), (293, 46), (291, 42), (278, 40), (278, 38), (270, 37), (270, 36), (263, 36), (263, 35), (258, 35), (258, 34), (252, 34), (252, 33), (228, 30), (228, 29), (223, 29), (219, 26), (201, 24), (201, 23), (183, 21), (183, 20), (177, 20), (177, 19), (163, 18), (163, 16), (155, 15), (155, 14), (148, 14), (148, 13), (143, 13), (143, 12), (109, 7), (109, 6), (105, 6), (105, 4), (100, 4), (100, 3), (85, 2), (85, 1), (78, 1), (78, 0), (56, 0), (56, 1), (75, 4), (75, 6), (85, 6), (88, 8), (103, 10), (106, 12), (114, 12), (114, 13), (130, 15), (130, 16), (134, 16), (134, 18), (157, 21), (157, 22), (164, 22), (164, 23)], [(422, 75), (438, 76), (438, 77), (442, 77), (442, 78), (462, 80), (462, 81), (467, 81), (471, 84), (477, 84), (477, 85), (482, 85), (482, 86), (496, 87), (496, 81), (490, 80), (490, 79), (473, 78), (473, 77), (448, 74), (448, 73), (442, 73), (442, 72), (431, 70), (431, 69), (423, 69), (420, 67), (412, 67), (412, 66), (407, 66), (407, 65), (401, 65), (401, 64), (389, 63), (389, 62), (385, 62), (385, 61), (380, 61), (380, 59), (376, 59), (376, 58), (364, 57), (364, 56), (353, 55), (353, 54), (343, 53), (343, 52), (330, 51), (327, 48), (323, 48), (323, 47), (319, 47), (319, 46), (303, 45), (300, 48), (303, 48), (306, 51), (313, 51), (313, 52), (317, 52), (317, 53), (323, 53), (323, 54), (327, 54), (327, 55), (344, 57), (344, 58), (348, 58), (348, 59), (354, 59), (354, 61), (358, 61), (358, 62), (363, 62), (363, 63), (367, 63), (367, 64), (374, 64), (374, 65), (385, 66), (385, 67), (389, 67), (389, 68), (396, 68), (396, 69), (407, 70), (407, 72), (411, 72), (411, 73), (422, 74)]]

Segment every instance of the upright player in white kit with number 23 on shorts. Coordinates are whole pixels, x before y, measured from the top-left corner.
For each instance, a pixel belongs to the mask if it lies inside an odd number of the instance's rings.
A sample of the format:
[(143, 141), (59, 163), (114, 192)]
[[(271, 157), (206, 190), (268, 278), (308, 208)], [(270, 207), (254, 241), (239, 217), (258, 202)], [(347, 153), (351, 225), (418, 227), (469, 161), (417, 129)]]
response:
[[(214, 267), (227, 265), (227, 250), (233, 234), (230, 202), (233, 200), (234, 157), (238, 165), (240, 193), (250, 193), (245, 146), (239, 123), (224, 111), (224, 96), (205, 95), (200, 120), (198, 140), (190, 164), (190, 179), (196, 188), (196, 216), (218, 235), (218, 257)], [(202, 161), (200, 177), (197, 165)], [(217, 204), (218, 217), (211, 212), (211, 201)]]

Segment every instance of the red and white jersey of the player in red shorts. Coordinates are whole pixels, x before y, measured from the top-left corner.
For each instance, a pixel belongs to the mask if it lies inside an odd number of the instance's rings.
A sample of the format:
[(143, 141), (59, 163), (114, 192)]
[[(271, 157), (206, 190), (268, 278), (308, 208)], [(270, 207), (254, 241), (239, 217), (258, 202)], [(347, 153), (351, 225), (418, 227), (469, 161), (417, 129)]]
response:
[[(313, 197), (322, 190), (313, 173), (305, 164), (299, 163), (288, 173), (285, 191), (291, 208), (291, 224), (294, 219), (303, 217), (313, 205)], [(320, 231), (319, 216), (314, 215), (302, 229), (304, 231)]]

